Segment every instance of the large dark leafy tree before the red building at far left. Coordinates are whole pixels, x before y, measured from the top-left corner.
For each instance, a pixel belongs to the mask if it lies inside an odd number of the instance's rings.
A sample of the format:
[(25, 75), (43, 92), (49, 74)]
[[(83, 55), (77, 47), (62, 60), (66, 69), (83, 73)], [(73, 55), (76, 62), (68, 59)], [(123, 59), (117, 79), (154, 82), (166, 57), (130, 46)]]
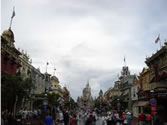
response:
[(32, 84), (32, 80), (30, 78), (23, 80), (20, 75), (9, 75), (7, 73), (2, 73), (2, 109), (7, 108), (10, 112), (12, 112), (16, 100), (18, 100), (18, 104), (22, 103), (22, 99), (29, 96), (32, 88), (34, 88), (34, 85)]

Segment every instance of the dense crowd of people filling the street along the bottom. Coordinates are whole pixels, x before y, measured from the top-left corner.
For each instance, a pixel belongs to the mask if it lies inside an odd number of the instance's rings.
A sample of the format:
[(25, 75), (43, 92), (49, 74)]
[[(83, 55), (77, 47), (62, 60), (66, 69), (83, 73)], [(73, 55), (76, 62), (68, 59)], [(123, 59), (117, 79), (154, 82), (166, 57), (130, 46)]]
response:
[[(96, 125), (100, 120), (102, 125), (133, 125), (131, 112), (99, 111), (97, 109), (65, 109), (51, 108), (47, 110), (21, 109), (14, 117), (13, 113), (3, 110), (1, 125)], [(159, 116), (141, 113), (138, 125), (160, 125)]]

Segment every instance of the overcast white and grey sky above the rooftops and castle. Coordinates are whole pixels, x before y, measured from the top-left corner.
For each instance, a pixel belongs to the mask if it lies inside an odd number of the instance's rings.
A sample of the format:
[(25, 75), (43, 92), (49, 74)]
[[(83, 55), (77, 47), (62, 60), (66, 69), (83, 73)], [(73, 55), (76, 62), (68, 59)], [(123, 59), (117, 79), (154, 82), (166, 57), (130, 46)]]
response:
[(1, 34), (9, 28), (15, 47), (32, 65), (59, 78), (71, 96), (90, 82), (93, 97), (113, 87), (121, 69), (131, 74), (146, 67), (145, 58), (167, 39), (166, 0), (2, 0)]

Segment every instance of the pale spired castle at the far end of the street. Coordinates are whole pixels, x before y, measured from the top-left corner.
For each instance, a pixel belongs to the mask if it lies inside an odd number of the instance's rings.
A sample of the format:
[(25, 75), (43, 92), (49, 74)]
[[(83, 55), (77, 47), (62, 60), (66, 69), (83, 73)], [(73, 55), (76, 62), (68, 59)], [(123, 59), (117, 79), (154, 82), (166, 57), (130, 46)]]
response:
[(91, 88), (89, 85), (89, 81), (86, 84), (86, 87), (82, 91), (82, 96), (78, 97), (77, 103), (79, 107), (92, 107), (94, 105), (94, 100), (91, 95)]

